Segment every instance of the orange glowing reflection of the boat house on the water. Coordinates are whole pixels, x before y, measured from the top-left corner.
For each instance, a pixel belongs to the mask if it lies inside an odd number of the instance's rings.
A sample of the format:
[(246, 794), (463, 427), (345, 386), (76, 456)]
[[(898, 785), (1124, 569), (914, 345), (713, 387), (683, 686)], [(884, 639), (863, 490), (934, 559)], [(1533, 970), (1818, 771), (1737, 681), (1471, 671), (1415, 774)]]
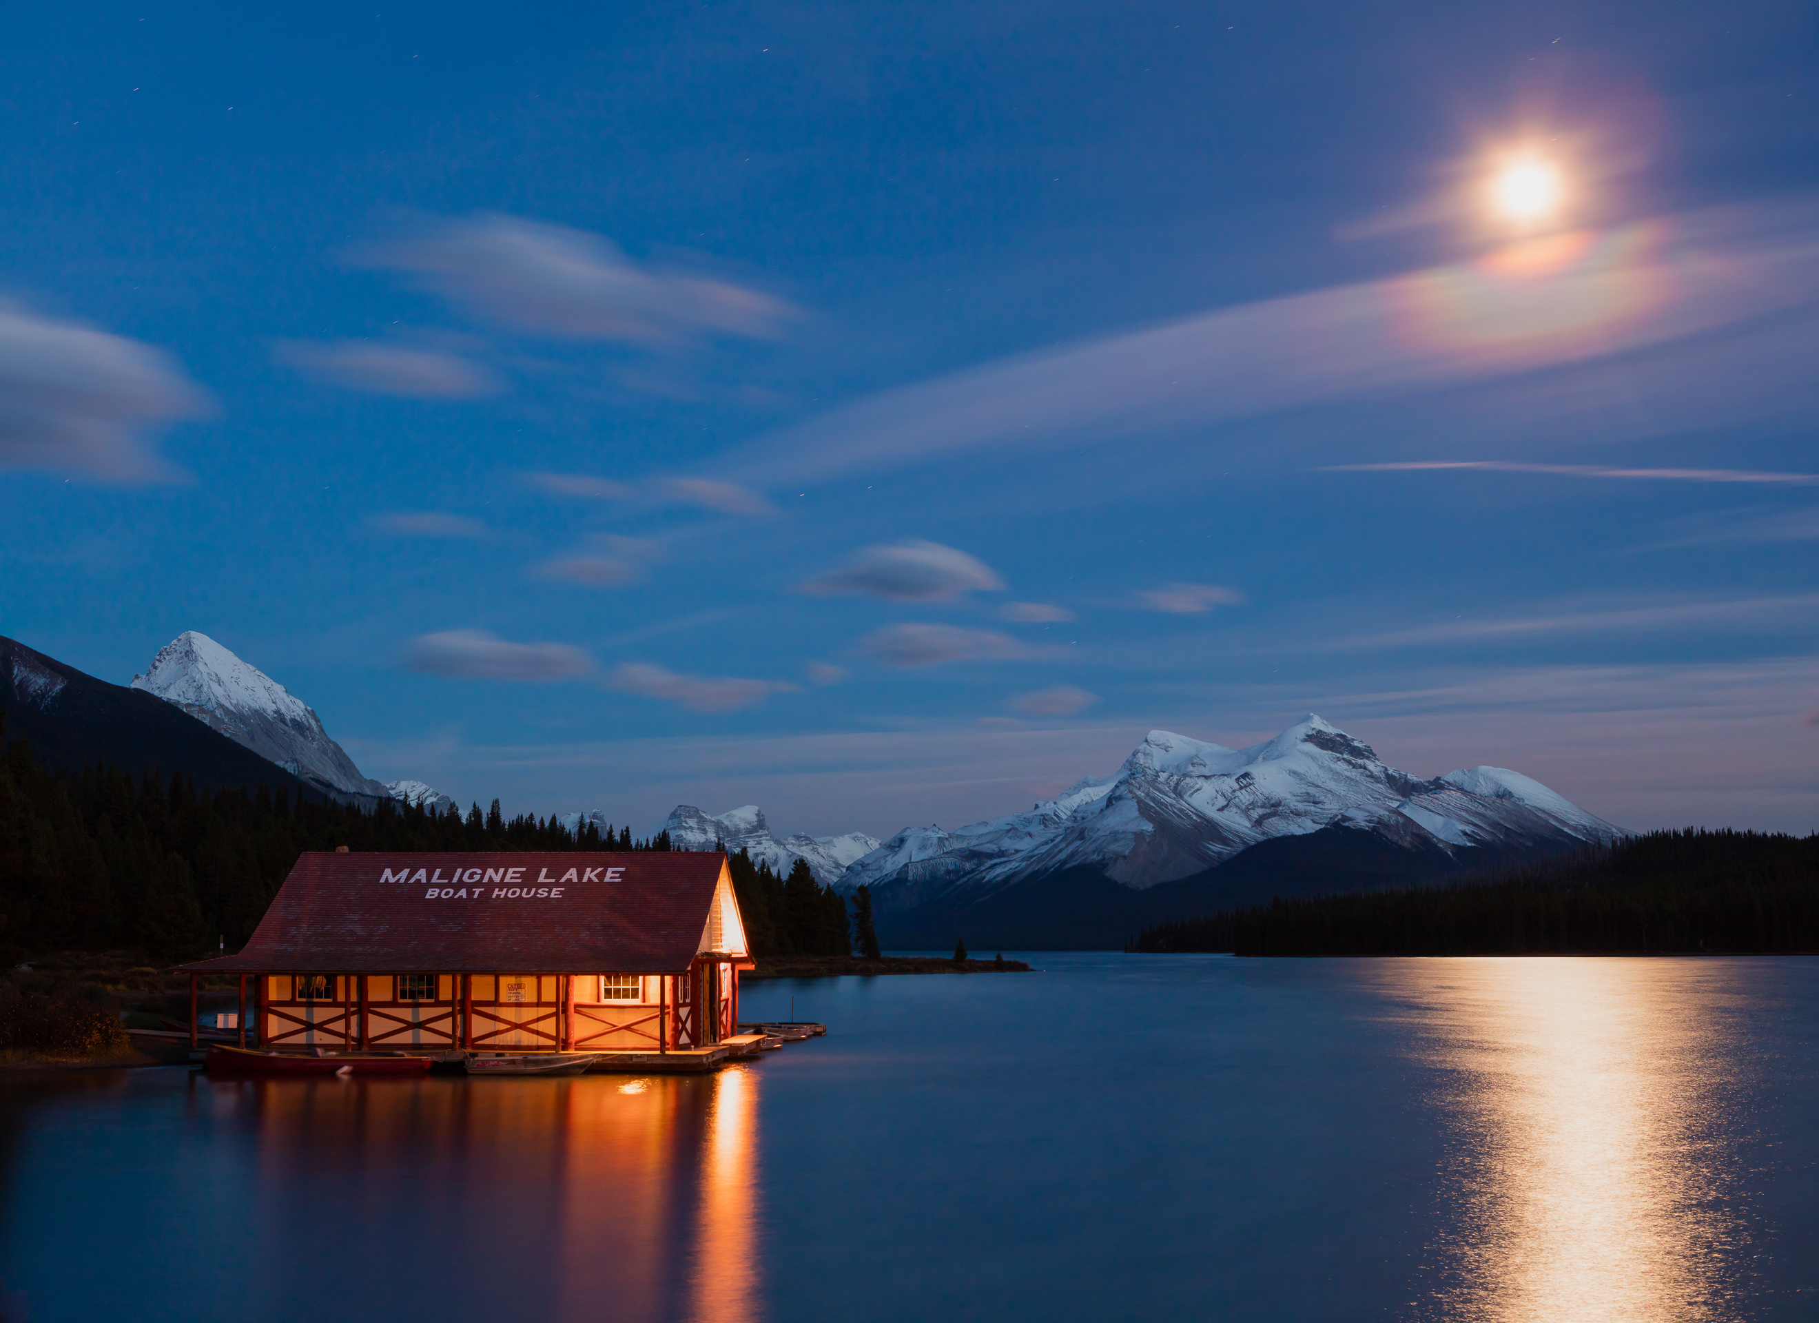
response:
[(198, 1086), (253, 1114), (247, 1216), (275, 1292), (333, 1263), (366, 1281), (453, 1274), (475, 1316), (760, 1314), (753, 1072)]

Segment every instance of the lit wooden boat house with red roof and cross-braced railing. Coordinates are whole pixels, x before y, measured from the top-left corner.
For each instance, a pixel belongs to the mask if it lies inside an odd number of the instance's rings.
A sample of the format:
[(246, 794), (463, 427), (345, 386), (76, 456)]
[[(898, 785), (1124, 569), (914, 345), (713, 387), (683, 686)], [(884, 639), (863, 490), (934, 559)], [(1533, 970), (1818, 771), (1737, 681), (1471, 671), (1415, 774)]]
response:
[(191, 1034), (196, 981), (238, 975), (266, 1050), (688, 1055), (751, 963), (724, 853), (309, 852), (242, 952), (180, 968)]

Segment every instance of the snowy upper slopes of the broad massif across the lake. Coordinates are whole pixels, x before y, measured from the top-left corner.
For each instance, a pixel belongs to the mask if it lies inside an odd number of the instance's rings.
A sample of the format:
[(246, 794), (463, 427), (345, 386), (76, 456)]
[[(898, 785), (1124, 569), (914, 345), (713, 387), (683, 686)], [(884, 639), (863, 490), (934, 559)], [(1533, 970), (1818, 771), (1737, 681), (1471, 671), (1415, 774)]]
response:
[(893, 908), (950, 886), (997, 890), (1060, 868), (1095, 868), (1131, 888), (1204, 872), (1259, 841), (1355, 826), (1410, 844), (1608, 843), (1623, 832), (1537, 781), (1472, 768), (1421, 781), (1308, 715), (1244, 750), (1151, 730), (1117, 775), (955, 832), (904, 828), (840, 877), (842, 892), (889, 884)]

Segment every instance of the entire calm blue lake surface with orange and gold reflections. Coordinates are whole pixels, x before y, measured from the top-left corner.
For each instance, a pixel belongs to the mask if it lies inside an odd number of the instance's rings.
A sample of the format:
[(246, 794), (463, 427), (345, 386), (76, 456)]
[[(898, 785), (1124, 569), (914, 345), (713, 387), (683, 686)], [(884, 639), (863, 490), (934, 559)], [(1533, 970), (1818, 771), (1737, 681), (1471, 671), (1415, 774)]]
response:
[(1030, 959), (709, 1079), (0, 1083), (4, 1308), (1819, 1318), (1819, 961)]

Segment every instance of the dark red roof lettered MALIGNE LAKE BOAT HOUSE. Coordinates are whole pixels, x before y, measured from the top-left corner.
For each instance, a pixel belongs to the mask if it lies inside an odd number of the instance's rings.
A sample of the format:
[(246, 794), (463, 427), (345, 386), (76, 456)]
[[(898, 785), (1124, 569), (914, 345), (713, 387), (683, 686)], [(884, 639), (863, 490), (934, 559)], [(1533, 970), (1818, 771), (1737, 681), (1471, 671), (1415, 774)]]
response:
[(722, 853), (298, 855), (238, 955), (204, 974), (677, 974)]

